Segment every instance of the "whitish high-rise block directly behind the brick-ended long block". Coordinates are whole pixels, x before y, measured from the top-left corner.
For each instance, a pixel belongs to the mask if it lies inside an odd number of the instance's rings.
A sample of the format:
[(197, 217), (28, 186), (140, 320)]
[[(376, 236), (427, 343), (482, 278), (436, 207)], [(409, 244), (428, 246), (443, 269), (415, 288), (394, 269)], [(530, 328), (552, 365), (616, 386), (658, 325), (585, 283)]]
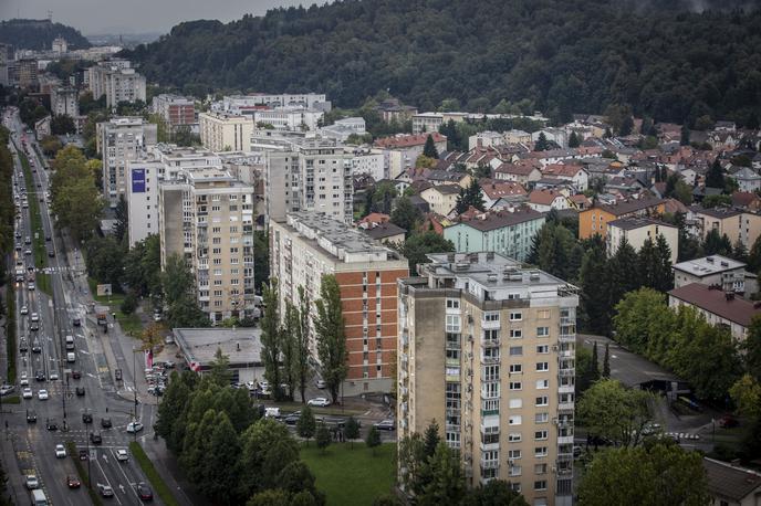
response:
[(268, 220), (312, 211), (352, 222), (352, 155), (321, 139), (272, 139), (264, 148), (264, 207)]

